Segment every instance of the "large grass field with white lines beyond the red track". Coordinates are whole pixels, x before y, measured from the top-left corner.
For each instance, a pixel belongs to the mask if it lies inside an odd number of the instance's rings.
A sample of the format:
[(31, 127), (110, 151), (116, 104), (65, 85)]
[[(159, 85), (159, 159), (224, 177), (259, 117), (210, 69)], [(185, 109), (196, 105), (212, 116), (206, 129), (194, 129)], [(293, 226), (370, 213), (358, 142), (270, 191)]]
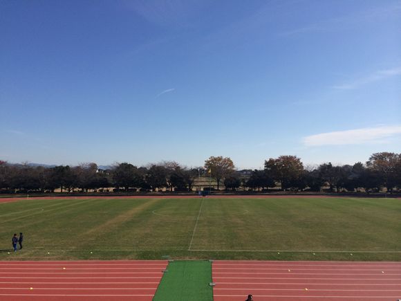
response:
[[(15, 232), (24, 232), (24, 249), (8, 254)], [(0, 203), (2, 260), (400, 261), (400, 237), (400, 199), (196, 197)]]

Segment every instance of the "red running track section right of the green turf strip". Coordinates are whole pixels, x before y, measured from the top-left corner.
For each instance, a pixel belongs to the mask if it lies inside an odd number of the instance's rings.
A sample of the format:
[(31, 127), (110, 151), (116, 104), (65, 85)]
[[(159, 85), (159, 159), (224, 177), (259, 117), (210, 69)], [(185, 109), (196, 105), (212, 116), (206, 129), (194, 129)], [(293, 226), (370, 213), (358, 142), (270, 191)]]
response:
[(397, 301), (401, 262), (217, 261), (214, 301)]

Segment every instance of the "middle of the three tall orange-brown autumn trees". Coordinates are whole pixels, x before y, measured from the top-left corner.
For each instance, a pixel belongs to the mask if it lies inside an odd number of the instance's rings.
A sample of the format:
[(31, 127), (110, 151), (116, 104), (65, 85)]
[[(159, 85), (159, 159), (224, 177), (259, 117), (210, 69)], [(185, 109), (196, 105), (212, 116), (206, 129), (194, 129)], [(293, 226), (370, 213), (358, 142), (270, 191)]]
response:
[(281, 183), (282, 190), (286, 190), (298, 185), (299, 178), (304, 175), (304, 165), (297, 156), (279, 156), (265, 161), (265, 172)]

